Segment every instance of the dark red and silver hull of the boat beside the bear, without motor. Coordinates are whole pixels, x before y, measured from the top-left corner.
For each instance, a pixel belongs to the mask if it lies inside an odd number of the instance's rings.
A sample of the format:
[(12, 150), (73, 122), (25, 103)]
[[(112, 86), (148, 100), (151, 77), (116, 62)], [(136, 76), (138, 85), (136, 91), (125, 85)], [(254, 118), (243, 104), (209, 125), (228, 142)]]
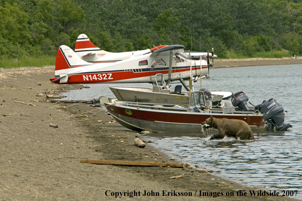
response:
[(223, 111), (194, 112), (188, 108), (173, 108), (167, 105), (145, 105), (132, 102), (105, 103), (116, 122), (126, 128), (141, 132), (200, 132), (201, 122), (210, 116), (215, 118), (240, 119), (247, 122), (253, 132), (267, 130), (263, 115), (249, 112), (225, 114)]

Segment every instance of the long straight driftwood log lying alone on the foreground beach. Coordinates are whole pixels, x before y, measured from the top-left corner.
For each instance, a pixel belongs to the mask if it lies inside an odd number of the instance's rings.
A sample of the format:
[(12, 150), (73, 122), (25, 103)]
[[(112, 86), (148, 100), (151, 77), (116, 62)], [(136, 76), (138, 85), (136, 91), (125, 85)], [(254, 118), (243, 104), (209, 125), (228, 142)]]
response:
[(112, 165), (130, 165), (130, 166), (170, 166), (173, 168), (183, 168), (183, 163), (173, 162), (143, 162), (143, 161), (124, 161), (124, 160), (80, 160), (80, 163), (91, 164), (112, 164)]

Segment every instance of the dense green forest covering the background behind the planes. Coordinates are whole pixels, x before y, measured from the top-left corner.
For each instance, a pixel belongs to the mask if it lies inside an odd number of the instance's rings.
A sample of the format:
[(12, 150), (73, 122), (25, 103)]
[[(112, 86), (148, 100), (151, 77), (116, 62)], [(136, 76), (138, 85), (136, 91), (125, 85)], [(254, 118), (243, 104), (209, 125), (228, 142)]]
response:
[(0, 0), (0, 57), (55, 56), (85, 33), (123, 52), (180, 44), (231, 55), (302, 55), (302, 0)]

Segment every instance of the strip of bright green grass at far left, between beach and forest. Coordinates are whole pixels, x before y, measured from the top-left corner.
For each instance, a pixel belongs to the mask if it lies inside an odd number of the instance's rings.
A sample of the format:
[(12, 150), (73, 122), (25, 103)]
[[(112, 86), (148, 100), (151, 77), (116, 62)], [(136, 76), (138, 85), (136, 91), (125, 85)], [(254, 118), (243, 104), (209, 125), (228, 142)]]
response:
[(0, 59), (0, 68), (11, 69), (11, 68), (19, 68), (19, 67), (42, 67), (45, 65), (54, 65), (55, 64), (55, 56), (41, 56), (39, 58), (35, 57), (24, 57), (20, 59)]

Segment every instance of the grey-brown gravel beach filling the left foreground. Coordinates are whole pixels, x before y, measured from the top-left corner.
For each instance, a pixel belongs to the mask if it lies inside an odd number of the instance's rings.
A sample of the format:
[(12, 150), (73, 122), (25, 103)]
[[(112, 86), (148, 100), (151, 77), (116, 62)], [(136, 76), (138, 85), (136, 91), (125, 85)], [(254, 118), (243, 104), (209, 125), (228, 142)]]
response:
[[(299, 61), (302, 63), (302, 59)], [(160, 197), (135, 197), (143, 200), (171, 200), (171, 196), (163, 196), (163, 190), (192, 192), (193, 195), (200, 191), (212, 193), (210, 196), (182, 196), (179, 200), (242, 200), (242, 196), (245, 200), (296, 200), (287, 196), (251, 196), (249, 190), (260, 189), (214, 176), (202, 167), (178, 169), (80, 163), (80, 159), (175, 161), (148, 143), (146, 148), (136, 147), (134, 139), (141, 134), (114, 123), (102, 109), (86, 104), (48, 102), (45, 92), (54, 94), (60, 92), (58, 88), (66, 89), (49, 81), (53, 72), (53, 66), (0, 70), (2, 200), (115, 199), (106, 195), (108, 190), (110, 193), (134, 190), (160, 193)], [(43, 96), (36, 96), (41, 92)], [(30, 103), (32, 105), (26, 105)], [(58, 128), (50, 127), (50, 123)], [(181, 177), (171, 179), (175, 176)], [(239, 189), (247, 191), (248, 195), (237, 196)], [(214, 192), (224, 195), (215, 197)], [(234, 196), (226, 196), (231, 192)], [(119, 199), (133, 198), (122, 196)]]

